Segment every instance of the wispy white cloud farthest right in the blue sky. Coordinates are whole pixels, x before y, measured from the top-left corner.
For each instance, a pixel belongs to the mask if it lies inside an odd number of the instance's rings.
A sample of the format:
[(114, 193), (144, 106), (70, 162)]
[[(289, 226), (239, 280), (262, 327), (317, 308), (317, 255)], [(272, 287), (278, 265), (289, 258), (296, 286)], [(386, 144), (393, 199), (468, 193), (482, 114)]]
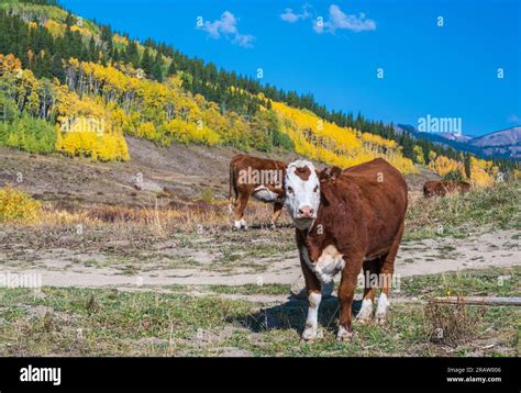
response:
[(367, 19), (364, 13), (358, 15), (345, 14), (339, 5), (331, 4), (329, 10), (329, 19), (326, 21), (314, 21), (313, 30), (319, 33), (334, 34), (336, 30), (350, 30), (355, 33), (376, 30), (376, 23), (372, 19)]

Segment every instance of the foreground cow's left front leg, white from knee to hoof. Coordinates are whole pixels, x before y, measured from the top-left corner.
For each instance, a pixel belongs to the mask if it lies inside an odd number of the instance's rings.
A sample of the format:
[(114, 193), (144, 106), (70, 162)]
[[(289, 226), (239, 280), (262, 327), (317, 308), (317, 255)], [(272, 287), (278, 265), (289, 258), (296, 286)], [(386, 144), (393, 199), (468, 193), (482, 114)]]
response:
[(310, 270), (304, 258), (308, 258), (308, 251), (301, 250), (300, 265), (306, 280), (306, 292), (308, 294), (308, 316), (302, 332), (302, 340), (310, 341), (317, 338), (319, 327), (319, 306), (322, 301), (322, 285), (317, 276)]

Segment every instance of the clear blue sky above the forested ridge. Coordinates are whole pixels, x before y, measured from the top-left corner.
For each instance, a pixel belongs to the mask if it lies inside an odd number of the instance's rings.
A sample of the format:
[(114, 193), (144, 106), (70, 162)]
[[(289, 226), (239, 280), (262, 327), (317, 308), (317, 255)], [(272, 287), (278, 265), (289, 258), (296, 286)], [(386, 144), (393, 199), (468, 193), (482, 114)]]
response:
[(461, 117), (469, 135), (521, 124), (517, 0), (60, 3), (218, 67), (253, 77), (262, 68), (264, 82), (312, 92), (329, 109), (415, 126), (428, 114)]

